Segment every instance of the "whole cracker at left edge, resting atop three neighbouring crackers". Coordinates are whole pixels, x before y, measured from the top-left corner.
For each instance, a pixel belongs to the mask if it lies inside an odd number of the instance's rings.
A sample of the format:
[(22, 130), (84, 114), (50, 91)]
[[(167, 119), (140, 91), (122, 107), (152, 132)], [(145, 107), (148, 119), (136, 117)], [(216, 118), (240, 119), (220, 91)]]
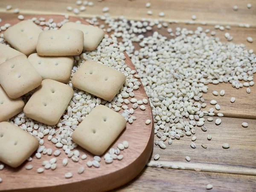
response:
[(41, 82), (41, 76), (25, 55), (18, 55), (0, 64), (0, 84), (12, 99), (35, 89)]

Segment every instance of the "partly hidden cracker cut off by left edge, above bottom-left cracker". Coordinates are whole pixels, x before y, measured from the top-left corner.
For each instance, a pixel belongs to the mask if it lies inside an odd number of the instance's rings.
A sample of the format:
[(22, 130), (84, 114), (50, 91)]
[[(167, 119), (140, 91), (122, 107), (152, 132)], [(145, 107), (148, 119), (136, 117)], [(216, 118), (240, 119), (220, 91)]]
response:
[(25, 106), (21, 98), (11, 99), (0, 85), (0, 122), (17, 115)]

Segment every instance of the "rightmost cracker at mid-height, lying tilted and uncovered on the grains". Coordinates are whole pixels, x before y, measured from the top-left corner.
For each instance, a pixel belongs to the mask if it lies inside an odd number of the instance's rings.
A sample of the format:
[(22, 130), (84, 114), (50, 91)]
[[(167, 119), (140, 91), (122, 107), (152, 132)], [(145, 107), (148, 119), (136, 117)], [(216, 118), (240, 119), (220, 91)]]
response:
[(74, 87), (111, 101), (122, 85), (125, 75), (107, 65), (85, 61), (72, 78)]

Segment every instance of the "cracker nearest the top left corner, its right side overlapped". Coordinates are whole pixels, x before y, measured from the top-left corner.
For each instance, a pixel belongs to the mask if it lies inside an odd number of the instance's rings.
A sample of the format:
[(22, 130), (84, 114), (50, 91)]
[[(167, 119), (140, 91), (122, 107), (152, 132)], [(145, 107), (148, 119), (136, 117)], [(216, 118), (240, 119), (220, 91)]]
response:
[(35, 23), (24, 20), (9, 27), (4, 33), (4, 38), (13, 48), (25, 55), (35, 52), (38, 36), (42, 32)]

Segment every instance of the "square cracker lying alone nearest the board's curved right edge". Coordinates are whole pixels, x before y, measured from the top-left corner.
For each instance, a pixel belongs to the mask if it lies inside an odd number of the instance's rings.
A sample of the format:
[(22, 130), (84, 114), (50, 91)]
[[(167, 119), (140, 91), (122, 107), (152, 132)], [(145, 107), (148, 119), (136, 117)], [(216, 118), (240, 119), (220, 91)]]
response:
[(125, 118), (119, 113), (98, 105), (73, 132), (72, 140), (92, 154), (102, 155), (125, 126)]

